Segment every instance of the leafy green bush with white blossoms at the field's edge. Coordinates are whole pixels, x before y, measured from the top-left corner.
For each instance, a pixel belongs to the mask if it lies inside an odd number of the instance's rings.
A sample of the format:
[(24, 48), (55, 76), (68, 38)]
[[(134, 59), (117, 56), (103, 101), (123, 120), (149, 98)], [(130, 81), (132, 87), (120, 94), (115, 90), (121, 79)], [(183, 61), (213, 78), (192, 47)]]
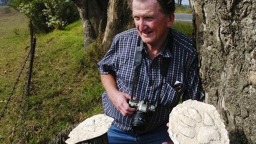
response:
[(32, 20), (37, 31), (61, 30), (78, 20), (75, 4), (66, 0), (13, 0), (11, 6)]

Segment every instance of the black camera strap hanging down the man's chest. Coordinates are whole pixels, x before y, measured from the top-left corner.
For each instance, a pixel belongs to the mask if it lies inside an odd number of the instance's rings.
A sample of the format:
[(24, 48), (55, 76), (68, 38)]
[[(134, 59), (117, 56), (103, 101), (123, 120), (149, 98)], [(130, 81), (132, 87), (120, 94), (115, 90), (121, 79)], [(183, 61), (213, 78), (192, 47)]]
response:
[[(172, 41), (171, 41), (171, 43), (172, 43)], [(171, 52), (171, 50), (170, 50), (170, 52)], [(133, 83), (132, 83), (131, 99), (133, 99), (133, 97), (134, 97), (134, 90), (135, 90), (135, 85), (136, 85), (136, 82), (137, 82), (137, 73), (138, 73), (139, 65), (141, 64), (141, 59), (142, 59), (142, 55), (141, 55), (141, 37), (139, 36), (138, 41), (137, 41), (135, 58), (134, 58), (135, 71), (134, 71), (134, 78), (133, 78)], [(171, 61), (171, 59), (169, 57), (162, 57), (162, 59), (163, 59), (163, 63), (162, 63), (162, 67), (161, 67), (162, 79), (161, 79), (161, 84), (160, 84), (160, 90), (159, 90), (158, 96), (157, 96), (156, 107), (158, 105), (158, 101), (160, 99), (161, 91), (162, 91), (162, 88), (163, 88), (163, 80), (164, 80), (165, 76), (167, 75), (168, 68), (169, 68), (169, 63)]]

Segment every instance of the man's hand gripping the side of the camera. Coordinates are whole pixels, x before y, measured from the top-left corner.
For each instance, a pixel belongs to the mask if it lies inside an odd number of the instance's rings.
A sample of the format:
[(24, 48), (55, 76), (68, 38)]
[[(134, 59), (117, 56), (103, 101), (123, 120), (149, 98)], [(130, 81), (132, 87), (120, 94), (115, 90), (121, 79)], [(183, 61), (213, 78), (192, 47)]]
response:
[(117, 91), (109, 95), (111, 95), (109, 96), (109, 98), (111, 99), (117, 110), (120, 111), (123, 116), (132, 116), (136, 109), (129, 107), (128, 100), (130, 100), (131, 98), (130, 94)]

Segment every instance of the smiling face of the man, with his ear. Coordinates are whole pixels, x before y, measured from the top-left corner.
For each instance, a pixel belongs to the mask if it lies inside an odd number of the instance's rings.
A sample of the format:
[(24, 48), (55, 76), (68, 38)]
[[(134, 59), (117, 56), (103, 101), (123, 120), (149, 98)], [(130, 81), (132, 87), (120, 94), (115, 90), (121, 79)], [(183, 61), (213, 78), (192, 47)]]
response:
[(143, 42), (152, 46), (161, 46), (165, 42), (169, 27), (173, 25), (174, 14), (164, 15), (156, 0), (133, 0), (132, 15)]

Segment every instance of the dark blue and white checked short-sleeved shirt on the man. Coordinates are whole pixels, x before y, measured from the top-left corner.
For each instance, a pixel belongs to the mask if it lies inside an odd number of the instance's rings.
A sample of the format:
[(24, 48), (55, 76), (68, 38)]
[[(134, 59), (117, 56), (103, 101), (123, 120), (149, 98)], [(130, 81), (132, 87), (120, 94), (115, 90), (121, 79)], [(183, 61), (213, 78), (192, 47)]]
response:
[[(115, 36), (111, 48), (104, 58), (98, 63), (100, 74), (112, 74), (116, 78), (119, 91), (127, 94), (132, 93), (134, 78), (134, 56), (139, 34), (131, 29)], [(173, 39), (173, 47), (169, 51), (168, 44)], [(134, 96), (137, 100), (146, 100), (151, 105), (156, 105), (158, 92), (161, 84), (161, 57), (171, 57), (167, 76), (164, 78), (158, 109), (152, 117), (148, 118), (147, 127), (142, 133), (151, 131), (169, 121), (169, 114), (175, 107), (182, 95), (182, 101), (188, 99), (202, 100), (204, 92), (200, 83), (197, 64), (197, 51), (193, 46), (192, 39), (170, 28), (167, 40), (160, 54), (152, 60), (147, 55), (145, 44), (141, 40), (142, 61), (138, 69), (137, 83)], [(181, 90), (174, 90), (172, 85), (176, 81), (182, 83)], [(124, 117), (116, 109), (105, 91), (102, 94), (104, 113), (114, 118), (113, 124), (120, 129), (135, 133), (132, 130), (132, 118)]]

